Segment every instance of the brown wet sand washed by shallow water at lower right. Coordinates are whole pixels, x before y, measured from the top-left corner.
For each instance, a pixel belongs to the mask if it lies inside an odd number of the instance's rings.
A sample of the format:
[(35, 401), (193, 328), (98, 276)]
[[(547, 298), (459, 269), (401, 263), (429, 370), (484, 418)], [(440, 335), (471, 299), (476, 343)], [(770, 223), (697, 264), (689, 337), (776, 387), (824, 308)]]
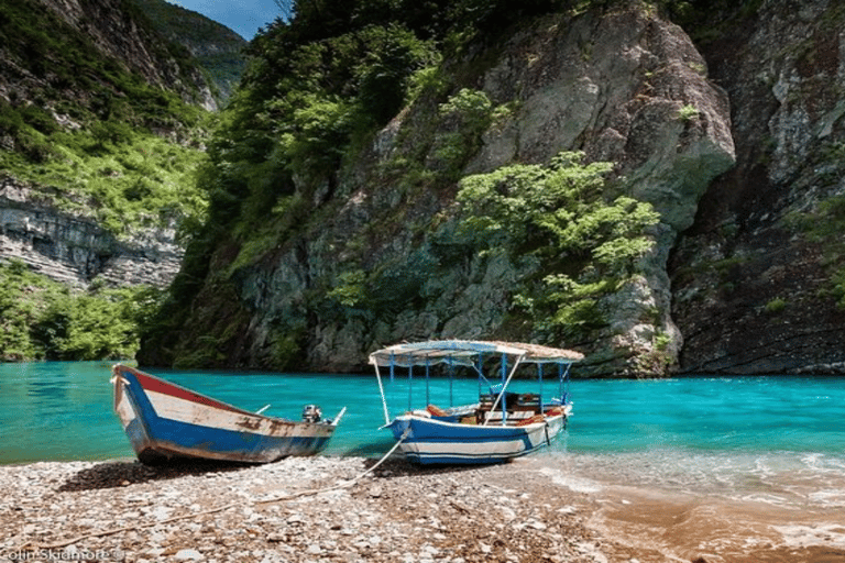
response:
[(689, 482), (644, 484), (618, 473), (613, 479), (591, 478), (583, 466), (573, 471), (566, 464), (550, 468), (548, 461), (533, 463), (544, 465), (539, 471), (558, 485), (586, 494), (592, 503), (592, 509), (584, 508), (588, 529), (632, 553), (659, 552), (654, 561), (845, 562), (841, 498), (817, 501), (841, 490), (838, 482), (834, 489), (813, 488), (803, 475), (781, 474), (769, 483), (749, 476), (750, 484), (740, 490), (735, 483), (690, 490), (695, 487)]

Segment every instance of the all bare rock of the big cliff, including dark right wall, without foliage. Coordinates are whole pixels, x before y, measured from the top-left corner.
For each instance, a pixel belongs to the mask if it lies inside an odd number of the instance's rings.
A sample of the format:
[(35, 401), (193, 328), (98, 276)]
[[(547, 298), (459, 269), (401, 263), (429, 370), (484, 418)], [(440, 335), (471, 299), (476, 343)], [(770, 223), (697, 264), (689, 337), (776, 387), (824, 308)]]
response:
[[(845, 372), (845, 8), (755, 10), (698, 46), (643, 7), (548, 16), (451, 65), (481, 68), (471, 86), (509, 108), (462, 175), (581, 150), (660, 212), (638, 275), (599, 303), (606, 327), (555, 343), (589, 354), (581, 375)], [(231, 283), (219, 273), (239, 250), (219, 247), (189, 317), (199, 329), (168, 353), (349, 371), (395, 341), (519, 334), (513, 287), (538, 265), (468, 253), (454, 189), (380, 172), (420, 152), (437, 172), (437, 140), (459, 129), (418, 102), (332, 180), (301, 185), (317, 212)], [(356, 302), (364, 278), (375, 303)]]

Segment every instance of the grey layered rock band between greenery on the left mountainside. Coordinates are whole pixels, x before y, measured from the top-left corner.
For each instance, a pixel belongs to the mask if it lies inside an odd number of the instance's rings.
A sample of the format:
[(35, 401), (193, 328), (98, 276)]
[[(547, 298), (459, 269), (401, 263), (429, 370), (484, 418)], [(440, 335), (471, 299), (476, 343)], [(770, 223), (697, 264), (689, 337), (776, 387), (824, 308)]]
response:
[(116, 286), (166, 287), (183, 251), (174, 230), (150, 230), (118, 240), (89, 218), (56, 209), (31, 187), (0, 178), (0, 257), (76, 288), (94, 279)]

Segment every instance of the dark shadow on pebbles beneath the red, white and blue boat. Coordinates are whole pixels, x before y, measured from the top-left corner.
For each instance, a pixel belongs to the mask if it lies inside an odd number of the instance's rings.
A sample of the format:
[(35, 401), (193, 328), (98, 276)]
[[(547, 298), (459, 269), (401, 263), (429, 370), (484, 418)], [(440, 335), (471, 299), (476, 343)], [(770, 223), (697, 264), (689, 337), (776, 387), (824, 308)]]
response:
[(238, 471), (251, 465), (242, 463), (182, 461), (166, 465), (144, 465), (140, 462), (106, 462), (81, 470), (58, 487), (59, 493), (116, 488), (152, 481), (175, 479), (185, 475), (202, 475)]

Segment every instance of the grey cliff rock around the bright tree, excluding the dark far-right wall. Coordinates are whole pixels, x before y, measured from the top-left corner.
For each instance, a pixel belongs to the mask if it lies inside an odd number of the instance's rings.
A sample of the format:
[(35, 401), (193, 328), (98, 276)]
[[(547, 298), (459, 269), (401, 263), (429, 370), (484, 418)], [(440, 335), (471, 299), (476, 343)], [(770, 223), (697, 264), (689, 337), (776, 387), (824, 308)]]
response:
[[(670, 316), (669, 251), (693, 223), (711, 179), (734, 164), (726, 93), (707, 79), (706, 63), (683, 31), (640, 8), (547, 16), (463, 64), (479, 60), (486, 70), (474, 88), (515, 109), (482, 134), (462, 175), (545, 164), (580, 150), (589, 161), (615, 163), (614, 189), (659, 211), (651, 233), (657, 244), (639, 275), (600, 303), (606, 325), (592, 341), (556, 344), (590, 354), (581, 373), (660, 373), (682, 343)], [(182, 334), (175, 354), (202, 349), (213, 334), (218, 343), (202, 356), (208, 362), (222, 350), (212, 364), (279, 368), (286, 354), (301, 349), (298, 368), (349, 371), (394, 341), (515, 335), (506, 327), (513, 288), (538, 264), (468, 253), (456, 242), (453, 189), (405, 189), (381, 175), (419, 151), (426, 124), (439, 123), (435, 139), (449, 135), (454, 123), (437, 112), (425, 102), (408, 108), (339, 172), (337, 186), (314, 191), (322, 211), (303, 218), (304, 233), (241, 268), (233, 277), (237, 307), (230, 301), (198, 313), (190, 323), (201, 325), (201, 334)], [(437, 168), (439, 154), (437, 142), (427, 148), (429, 167)], [(220, 249), (212, 271), (231, 260), (232, 249)], [(339, 307), (339, 295), (356, 290), (356, 276), (372, 273), (376, 306), (347, 299)], [(220, 297), (215, 283), (198, 301), (211, 295)], [(239, 324), (211, 320), (223, 314)], [(155, 363), (156, 356), (147, 349), (140, 360)]]

